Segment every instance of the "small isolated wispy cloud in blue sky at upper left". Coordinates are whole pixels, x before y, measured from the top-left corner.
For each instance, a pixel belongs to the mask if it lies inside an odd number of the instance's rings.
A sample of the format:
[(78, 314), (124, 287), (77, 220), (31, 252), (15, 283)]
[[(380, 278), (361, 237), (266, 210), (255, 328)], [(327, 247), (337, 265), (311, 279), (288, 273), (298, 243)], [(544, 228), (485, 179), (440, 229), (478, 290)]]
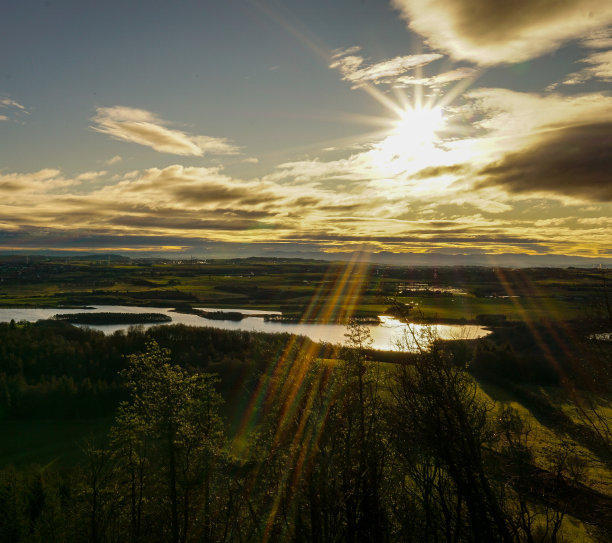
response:
[(154, 113), (123, 106), (100, 107), (91, 128), (113, 139), (151, 147), (160, 153), (182, 156), (234, 154), (238, 148), (226, 138), (197, 136), (166, 128), (168, 124)]

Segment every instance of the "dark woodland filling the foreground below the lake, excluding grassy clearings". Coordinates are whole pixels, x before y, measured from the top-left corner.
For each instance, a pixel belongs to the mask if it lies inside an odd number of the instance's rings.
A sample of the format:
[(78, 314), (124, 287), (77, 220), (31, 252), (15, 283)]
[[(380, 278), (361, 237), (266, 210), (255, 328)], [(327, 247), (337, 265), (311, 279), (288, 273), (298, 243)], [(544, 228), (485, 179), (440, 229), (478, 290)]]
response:
[[(474, 379), (522, 390), (552, 418), (521, 383), (610, 392), (606, 342), (565, 329), (504, 327), (381, 362), (357, 324), (342, 349), (0, 324), (4, 420), (114, 418), (77, 465), (0, 471), (0, 541), (569, 541), (570, 518), (607, 541), (612, 499), (586, 484), (584, 459), (563, 443), (536, 459), (526, 421)], [(611, 467), (609, 427), (587, 424), (598, 412), (580, 398), (568, 390), (586, 426), (556, 423)]]

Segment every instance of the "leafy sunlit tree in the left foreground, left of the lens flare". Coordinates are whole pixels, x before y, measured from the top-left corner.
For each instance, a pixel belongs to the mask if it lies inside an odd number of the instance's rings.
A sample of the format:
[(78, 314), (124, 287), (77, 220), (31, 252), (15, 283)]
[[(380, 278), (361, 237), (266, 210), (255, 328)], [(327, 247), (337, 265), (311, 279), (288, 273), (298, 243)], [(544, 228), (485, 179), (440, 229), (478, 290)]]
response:
[(130, 399), (119, 408), (112, 447), (132, 541), (144, 538), (144, 517), (157, 524), (155, 538), (183, 543), (197, 526), (201, 540), (214, 540), (213, 470), (224, 442), (215, 377), (172, 365), (153, 341), (129, 356), (122, 375)]

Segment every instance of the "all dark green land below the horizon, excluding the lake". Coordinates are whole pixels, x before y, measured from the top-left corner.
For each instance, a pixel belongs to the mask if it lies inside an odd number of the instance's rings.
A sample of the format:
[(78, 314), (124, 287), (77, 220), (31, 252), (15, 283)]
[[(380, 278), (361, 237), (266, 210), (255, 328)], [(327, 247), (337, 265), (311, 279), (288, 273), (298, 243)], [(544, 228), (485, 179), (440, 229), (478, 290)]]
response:
[(390, 308), (493, 327), (383, 353), (359, 324), (340, 348), (0, 323), (1, 542), (612, 541), (602, 272), (0, 259), (0, 273), (5, 305), (362, 322)]

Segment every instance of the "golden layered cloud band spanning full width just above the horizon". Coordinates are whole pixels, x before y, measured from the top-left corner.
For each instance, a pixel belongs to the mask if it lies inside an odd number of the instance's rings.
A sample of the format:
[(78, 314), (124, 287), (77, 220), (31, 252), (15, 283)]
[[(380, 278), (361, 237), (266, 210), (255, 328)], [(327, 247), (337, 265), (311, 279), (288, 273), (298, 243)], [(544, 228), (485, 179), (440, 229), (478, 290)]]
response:
[[(578, 140), (583, 136), (575, 134)], [(554, 155), (553, 148), (545, 147), (543, 136), (537, 141), (544, 146), (539, 157)], [(534, 144), (529, 149), (539, 148)], [(612, 242), (607, 225), (596, 218), (566, 226), (517, 220), (517, 213), (510, 212), (515, 202), (523, 205), (524, 199), (514, 200), (514, 194), (522, 193), (513, 191), (503, 178), (517, 166), (517, 162), (510, 162), (514, 158), (511, 154), (506, 162), (491, 162), (491, 170), (481, 174), (480, 181), (489, 180), (490, 185), (474, 190), (466, 180), (444, 191), (440, 198), (432, 191), (436, 176), (471, 178), (471, 166), (451, 163), (421, 169), (412, 174), (414, 179), (405, 173), (395, 179), (368, 179), (367, 172), (373, 174), (374, 170), (359, 171), (368, 152), (344, 163), (319, 162), (310, 169), (307, 163), (286, 164), (284, 177), (274, 180), (235, 179), (220, 168), (179, 164), (129, 172), (118, 180), (104, 172), (66, 178), (52, 169), (0, 175), (4, 198), (0, 237), (4, 245), (17, 244), (19, 238), (46, 247), (53, 246), (52, 239), (73, 246), (95, 239), (107, 247), (113, 243), (151, 247), (153, 240), (159, 245), (189, 246), (193, 240), (205, 239), (313, 243), (327, 248), (367, 243), (375, 250), (394, 251), (453, 248), (498, 252), (561, 252), (568, 246), (575, 247), (574, 252), (593, 251)], [(330, 172), (339, 174), (344, 169), (348, 176), (351, 168), (359, 179), (326, 182)], [(290, 179), (300, 170), (307, 170), (309, 180)], [(101, 183), (106, 184), (99, 188)], [(71, 191), (72, 186), (78, 190)], [(551, 219), (568, 219), (570, 209), (578, 216), (589, 216), (571, 203), (542, 202), (551, 210)], [(597, 211), (597, 217), (610, 209), (609, 204), (601, 205), (603, 211)], [(534, 217), (546, 218), (540, 212)]]

